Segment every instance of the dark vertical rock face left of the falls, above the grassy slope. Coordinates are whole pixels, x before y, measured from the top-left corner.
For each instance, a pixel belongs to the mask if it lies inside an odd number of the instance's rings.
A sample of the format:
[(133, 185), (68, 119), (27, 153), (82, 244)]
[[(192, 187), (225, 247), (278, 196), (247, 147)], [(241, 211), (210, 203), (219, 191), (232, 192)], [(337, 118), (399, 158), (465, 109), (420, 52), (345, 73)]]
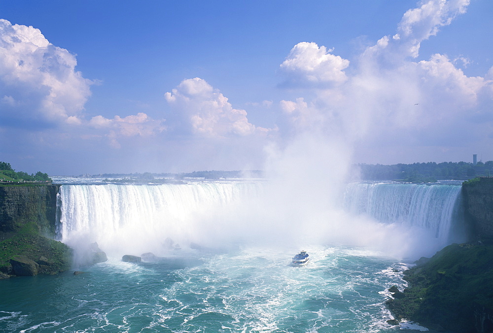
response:
[(34, 223), (38, 232), (55, 235), (59, 185), (0, 187), (0, 232), (15, 233)]

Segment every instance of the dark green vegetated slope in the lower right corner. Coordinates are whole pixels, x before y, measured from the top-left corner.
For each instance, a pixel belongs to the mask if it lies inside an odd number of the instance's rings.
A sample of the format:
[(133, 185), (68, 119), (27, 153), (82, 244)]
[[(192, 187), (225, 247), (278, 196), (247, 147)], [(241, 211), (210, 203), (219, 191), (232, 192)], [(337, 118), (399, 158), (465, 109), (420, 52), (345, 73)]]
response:
[[(478, 318), (493, 310), (493, 246), (452, 244), (420, 261), (405, 271), (409, 287), (387, 301), (394, 317), (430, 328), (476, 332)], [(482, 324), (493, 329), (493, 322)]]

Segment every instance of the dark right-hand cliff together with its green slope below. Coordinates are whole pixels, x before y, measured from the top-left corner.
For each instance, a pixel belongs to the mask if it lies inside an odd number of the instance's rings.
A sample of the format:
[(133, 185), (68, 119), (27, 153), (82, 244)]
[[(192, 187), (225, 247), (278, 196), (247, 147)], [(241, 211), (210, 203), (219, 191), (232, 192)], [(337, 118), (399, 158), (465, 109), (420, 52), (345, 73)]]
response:
[(404, 272), (408, 287), (389, 289), (388, 308), (436, 331), (493, 332), (493, 177), (462, 184), (474, 242), (452, 244)]

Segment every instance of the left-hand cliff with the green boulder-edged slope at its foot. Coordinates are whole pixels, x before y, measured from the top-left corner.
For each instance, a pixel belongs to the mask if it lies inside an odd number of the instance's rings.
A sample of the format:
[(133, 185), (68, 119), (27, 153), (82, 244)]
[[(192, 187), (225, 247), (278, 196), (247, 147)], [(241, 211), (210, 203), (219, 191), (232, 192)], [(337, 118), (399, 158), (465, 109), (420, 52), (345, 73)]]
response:
[(70, 269), (72, 250), (54, 240), (59, 186), (0, 186), (0, 279)]

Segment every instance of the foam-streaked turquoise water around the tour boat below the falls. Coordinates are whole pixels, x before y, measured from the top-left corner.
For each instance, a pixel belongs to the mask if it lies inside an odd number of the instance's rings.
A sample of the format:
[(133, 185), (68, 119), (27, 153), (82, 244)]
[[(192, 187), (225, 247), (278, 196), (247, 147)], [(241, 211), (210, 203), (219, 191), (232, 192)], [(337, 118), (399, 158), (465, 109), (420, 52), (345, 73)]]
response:
[[(397, 332), (386, 289), (404, 264), (363, 249), (177, 252), (86, 273), (0, 281), (2, 332)], [(184, 252), (184, 251), (183, 251)]]

